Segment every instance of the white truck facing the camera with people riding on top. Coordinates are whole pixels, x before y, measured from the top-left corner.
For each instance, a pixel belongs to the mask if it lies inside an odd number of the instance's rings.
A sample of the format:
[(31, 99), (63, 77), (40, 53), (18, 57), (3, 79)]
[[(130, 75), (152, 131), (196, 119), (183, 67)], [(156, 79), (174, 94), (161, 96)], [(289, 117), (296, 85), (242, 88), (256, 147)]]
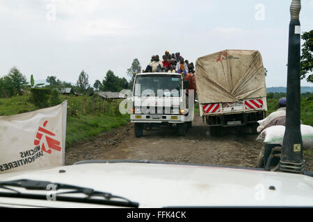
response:
[[(188, 81), (181, 74), (142, 73), (134, 79), (130, 119), (135, 123), (135, 135), (141, 137), (145, 127), (176, 124), (181, 136), (193, 120), (193, 96), (186, 96)], [(188, 107), (188, 99), (191, 105)]]

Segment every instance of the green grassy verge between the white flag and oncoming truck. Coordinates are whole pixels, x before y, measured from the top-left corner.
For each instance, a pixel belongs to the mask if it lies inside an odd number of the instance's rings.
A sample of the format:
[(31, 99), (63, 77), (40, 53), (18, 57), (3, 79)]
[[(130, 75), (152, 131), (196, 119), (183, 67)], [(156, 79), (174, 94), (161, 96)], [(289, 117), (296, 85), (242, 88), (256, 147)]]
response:
[(129, 114), (122, 115), (118, 110), (121, 100), (104, 101), (97, 95), (61, 96), (61, 100), (67, 100), (66, 146), (93, 139), (129, 121)]

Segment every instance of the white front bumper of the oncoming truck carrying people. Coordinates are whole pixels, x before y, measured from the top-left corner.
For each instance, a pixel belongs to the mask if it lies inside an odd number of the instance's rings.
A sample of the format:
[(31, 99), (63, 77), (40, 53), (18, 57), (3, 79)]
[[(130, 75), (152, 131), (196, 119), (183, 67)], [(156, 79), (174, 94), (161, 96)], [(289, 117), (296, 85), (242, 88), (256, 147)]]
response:
[(184, 123), (184, 115), (131, 114), (132, 123)]

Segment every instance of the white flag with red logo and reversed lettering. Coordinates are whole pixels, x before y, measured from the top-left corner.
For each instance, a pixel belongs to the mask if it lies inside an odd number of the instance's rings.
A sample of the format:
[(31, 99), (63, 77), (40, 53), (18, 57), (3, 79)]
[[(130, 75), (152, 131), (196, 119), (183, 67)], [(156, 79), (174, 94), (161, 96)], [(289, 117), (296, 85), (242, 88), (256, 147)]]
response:
[(0, 173), (65, 164), (67, 101), (54, 107), (0, 117)]

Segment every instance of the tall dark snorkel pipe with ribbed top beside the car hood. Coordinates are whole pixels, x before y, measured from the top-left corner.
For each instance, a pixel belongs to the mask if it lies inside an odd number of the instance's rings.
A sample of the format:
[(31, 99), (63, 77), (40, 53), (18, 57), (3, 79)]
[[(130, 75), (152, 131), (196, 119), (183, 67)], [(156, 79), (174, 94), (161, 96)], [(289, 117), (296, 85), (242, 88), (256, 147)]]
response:
[(293, 0), (289, 24), (286, 130), (280, 161), (280, 170), (296, 173), (302, 173), (305, 166), (300, 131), (300, 9), (300, 0)]

